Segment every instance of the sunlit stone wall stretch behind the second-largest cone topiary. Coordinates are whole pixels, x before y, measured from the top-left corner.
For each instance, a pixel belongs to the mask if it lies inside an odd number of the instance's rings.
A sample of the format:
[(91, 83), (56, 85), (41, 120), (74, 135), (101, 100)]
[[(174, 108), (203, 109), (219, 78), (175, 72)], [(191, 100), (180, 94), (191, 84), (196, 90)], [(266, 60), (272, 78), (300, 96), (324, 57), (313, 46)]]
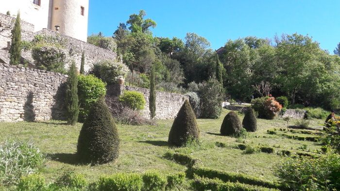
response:
[[(118, 86), (118, 87), (117, 87)], [(117, 85), (108, 88), (107, 96), (118, 97), (123, 94), (124, 90), (141, 92), (146, 100), (144, 110), (141, 111), (142, 116), (150, 119), (149, 96), (150, 90), (139, 87)], [(181, 109), (187, 96), (182, 94), (174, 94), (168, 92), (156, 91), (156, 116), (155, 119), (173, 119)]]

